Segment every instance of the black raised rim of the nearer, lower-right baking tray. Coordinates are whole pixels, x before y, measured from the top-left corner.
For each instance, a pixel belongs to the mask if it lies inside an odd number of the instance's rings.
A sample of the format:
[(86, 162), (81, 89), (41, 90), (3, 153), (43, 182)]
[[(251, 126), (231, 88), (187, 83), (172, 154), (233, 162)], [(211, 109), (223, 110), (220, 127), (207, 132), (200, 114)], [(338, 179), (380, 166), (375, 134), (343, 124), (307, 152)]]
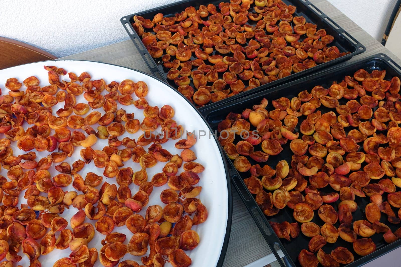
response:
[[(365, 58), (361, 58), (355, 62), (352, 62), (352, 64), (358, 65), (359, 63), (369, 61), (369, 60), (380, 60), (380, 61), (384, 62), (384, 64), (386, 64), (389, 68), (393, 68), (397, 73), (399, 73), (399, 76), (401, 76), (401, 66), (399, 64), (397, 64), (394, 60), (392, 60), (387, 54), (384, 54), (384, 53), (378, 53), (378, 54), (374, 54), (371, 56), (367, 56)], [(350, 64), (347, 64), (346, 66), (348, 66), (348, 65), (350, 65)], [(325, 70), (325, 72), (334, 71), (336, 68), (338, 68), (338, 67), (329, 68), (329, 69)], [(316, 73), (314, 75), (310, 75), (305, 78), (308, 78), (309, 80), (313, 80), (315, 77), (321, 76), (321, 75), (322, 75), (322, 73)], [(242, 100), (247, 101), (247, 100), (251, 100), (253, 98), (260, 98), (260, 97), (262, 97), (261, 94), (276, 92), (286, 86), (296, 85), (296, 84), (298, 84), (298, 82), (299, 82), (298, 80), (294, 80), (294, 81), (288, 82), (286, 84), (281, 84), (281, 85), (275, 86), (274, 88), (271, 88), (271, 90), (269, 90), (268, 92), (263, 92), (263, 91), (258, 92), (257, 94), (249, 95), (249, 96), (243, 98)], [(228, 106), (229, 104), (232, 104), (234, 102), (236, 102), (236, 101), (231, 101), (229, 103), (225, 103), (223, 105), (219, 105), (219, 106), (215, 106), (215, 107), (209, 107), (207, 109), (201, 110), (201, 114), (207, 120), (207, 117), (209, 116), (209, 114), (211, 114), (212, 112), (218, 112), (219, 110), (221, 110), (221, 108), (224, 108), (225, 106)], [(237, 103), (239, 103), (239, 102), (237, 102)], [(295, 267), (296, 265), (295, 265), (294, 261), (292, 261), (291, 257), (289, 256), (286, 249), (284, 248), (284, 245), (282, 244), (281, 240), (277, 237), (277, 235), (274, 233), (272, 227), (270, 226), (270, 224), (267, 220), (267, 216), (263, 214), (263, 212), (257, 205), (255, 198), (249, 192), (245, 183), (243, 182), (241, 175), (239, 174), (238, 171), (235, 170), (233, 161), (228, 159), (227, 155), (225, 155), (225, 157), (230, 165), (229, 172), (231, 175), (231, 181), (232, 181), (234, 187), (237, 189), (237, 191), (238, 191), (241, 199), (243, 200), (243, 203), (247, 207), (249, 213), (253, 217), (257, 227), (259, 228), (259, 231), (265, 238), (267, 245), (269, 245), (269, 247), (271, 248), (271, 251), (273, 252), (274, 255), (276, 255), (275, 249), (274, 249), (275, 245), (278, 245), (280, 247), (282, 253), (284, 254), (284, 257), (282, 259), (280, 259), (279, 257), (276, 256), (278, 263), (280, 264), (281, 267)], [(245, 195), (244, 195), (244, 193), (245, 193)], [(254, 212), (255, 212), (255, 211), (253, 211), (254, 209), (257, 210), (257, 212), (259, 213), (260, 216), (257, 216), (254, 214)], [(264, 225), (262, 225), (262, 222), (260, 221), (260, 219), (263, 221)], [(266, 227), (270, 231), (270, 234), (268, 234), (267, 231), (264, 229)], [(401, 247), (401, 239), (399, 239), (393, 243), (387, 244), (384, 247), (377, 249), (373, 253), (371, 253), (367, 256), (361, 257), (360, 259), (358, 259), (352, 263), (344, 265), (344, 267), (360, 267), (366, 263), (373, 261), (374, 259), (377, 259), (377, 258), (393, 251), (394, 249), (399, 248), (399, 247)]]

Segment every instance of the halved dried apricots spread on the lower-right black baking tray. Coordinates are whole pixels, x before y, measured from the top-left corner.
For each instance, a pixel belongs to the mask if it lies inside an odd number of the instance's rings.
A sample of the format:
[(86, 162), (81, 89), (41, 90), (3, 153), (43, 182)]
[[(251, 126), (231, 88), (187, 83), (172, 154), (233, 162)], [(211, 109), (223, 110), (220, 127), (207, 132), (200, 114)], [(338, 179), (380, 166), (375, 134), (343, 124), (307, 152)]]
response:
[[(272, 100), (270, 110), (263, 98), (219, 123), (219, 141), (237, 171), (250, 173), (244, 182), (263, 213), (271, 217), (293, 210), (295, 221), (270, 222), (277, 236), (290, 241), (301, 231), (311, 238), (308, 248), (300, 248), (302, 267), (354, 261), (345, 247), (323, 251), (338, 237), (360, 256), (376, 250), (372, 235), (384, 233), (387, 243), (401, 238), (401, 228), (393, 233), (380, 222), (381, 213), (391, 224), (401, 219), (401, 191), (396, 190), (401, 187), (401, 83), (398, 77), (384, 80), (385, 75), (385, 70), (360, 69), (329, 88), (315, 86), (292, 99)], [(291, 162), (272, 168), (268, 159), (282, 146), (292, 151)], [(358, 207), (356, 198), (369, 204)], [(338, 203), (338, 209), (330, 203)], [(365, 217), (353, 218), (358, 208)], [(311, 222), (316, 215), (323, 225)]]

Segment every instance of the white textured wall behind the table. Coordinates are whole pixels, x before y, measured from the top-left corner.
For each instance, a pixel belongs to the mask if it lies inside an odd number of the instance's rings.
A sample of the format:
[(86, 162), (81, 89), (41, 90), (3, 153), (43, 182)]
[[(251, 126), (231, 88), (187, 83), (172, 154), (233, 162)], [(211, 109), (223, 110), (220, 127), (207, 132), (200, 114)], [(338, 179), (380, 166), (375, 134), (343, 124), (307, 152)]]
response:
[[(177, 0), (1, 0), (0, 36), (67, 56), (127, 40), (119, 19)], [(381, 40), (395, 0), (329, 0)], [(60, 4), (57, 4), (60, 3)]]

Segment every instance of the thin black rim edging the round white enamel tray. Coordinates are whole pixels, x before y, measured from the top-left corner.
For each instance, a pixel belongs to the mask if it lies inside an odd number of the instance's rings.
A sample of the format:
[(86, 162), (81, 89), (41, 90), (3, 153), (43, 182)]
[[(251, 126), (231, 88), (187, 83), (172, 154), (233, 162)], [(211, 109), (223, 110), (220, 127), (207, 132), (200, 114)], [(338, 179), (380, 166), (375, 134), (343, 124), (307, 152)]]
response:
[[(120, 66), (117, 64), (112, 64), (112, 63), (105, 63), (105, 62), (100, 62), (100, 61), (94, 61), (94, 60), (81, 60), (81, 59), (55, 59), (55, 60), (43, 60), (43, 61), (37, 61), (37, 62), (31, 62), (31, 63), (26, 63), (26, 64), (21, 64), (18, 66), (23, 66), (23, 65), (28, 65), (28, 64), (32, 64), (32, 63), (45, 63), (45, 62), (53, 62), (53, 61), (87, 61), (87, 62), (95, 62), (95, 63), (101, 63), (101, 64), (107, 64), (107, 65), (111, 65), (111, 66), (117, 66), (117, 67), (122, 67), (122, 68), (127, 68), (129, 70), (134, 70), (137, 72), (140, 72), (141, 74), (144, 74), (146, 76), (149, 76), (151, 78), (154, 78), (156, 80), (158, 80), (159, 82), (162, 82), (163, 84), (165, 84), (166, 86), (168, 86), (169, 88), (171, 88), (172, 90), (174, 90), (174, 92), (177, 92), (178, 94), (180, 94), (180, 96), (182, 96), (183, 98), (185, 98), (185, 100), (189, 103), (192, 104), (191, 102), (188, 101), (188, 99), (186, 99), (186, 97), (184, 97), (180, 92), (178, 92), (177, 90), (175, 90), (174, 88), (172, 88), (172, 86), (170, 86), (170, 84), (164, 82), (163, 80), (160, 80), (157, 77), (154, 77), (146, 72), (143, 72), (141, 70), (137, 70), (134, 68), (130, 68), (130, 67), (126, 67), (126, 66)], [(14, 67), (10, 67), (10, 68), (14, 68)], [(4, 70), (6, 70), (8, 68), (5, 68)], [(212, 132), (212, 128), (210, 127), (210, 125), (206, 122), (205, 117), (201, 114), (201, 112), (199, 112), (199, 110), (197, 110), (195, 108), (196, 112), (199, 114), (199, 116), (201, 116), (201, 118), (203, 119), (203, 121), (205, 122), (205, 124), (207, 125), (207, 127), (209, 128), (209, 130)], [(226, 233), (225, 233), (225, 237), (224, 237), (224, 241), (223, 241), (223, 246), (221, 248), (221, 253), (220, 253), (220, 257), (219, 260), (217, 261), (217, 265), (216, 266), (223, 266), (223, 262), (225, 259), (225, 255), (227, 253), (227, 247), (228, 247), (228, 241), (230, 239), (230, 234), (231, 234), (231, 223), (232, 223), (232, 219), (233, 219), (233, 195), (232, 195), (232, 191), (231, 191), (231, 183), (230, 183), (230, 175), (228, 172), (228, 165), (227, 165), (227, 160), (225, 159), (225, 156), (223, 156), (223, 150), (221, 149), (221, 146), (219, 144), (219, 142), (217, 142), (217, 139), (214, 139), (217, 147), (219, 148), (220, 151), (220, 156), (221, 159), (223, 160), (223, 165), (224, 165), (224, 169), (225, 169), (225, 173), (226, 173), (226, 177), (227, 177), (227, 199), (228, 199), (228, 217), (227, 217), (227, 227), (226, 227)]]

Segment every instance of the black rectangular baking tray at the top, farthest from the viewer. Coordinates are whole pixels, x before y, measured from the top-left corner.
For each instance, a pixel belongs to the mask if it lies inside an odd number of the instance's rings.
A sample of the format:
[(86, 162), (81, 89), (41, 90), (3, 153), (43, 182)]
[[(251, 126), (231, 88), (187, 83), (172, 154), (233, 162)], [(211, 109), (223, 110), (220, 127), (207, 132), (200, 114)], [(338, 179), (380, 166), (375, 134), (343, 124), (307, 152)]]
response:
[[(174, 16), (177, 12), (181, 12), (185, 10), (185, 8), (189, 6), (194, 6), (195, 8), (198, 8), (200, 5), (207, 5), (207, 4), (215, 4), (218, 6), (220, 2), (228, 2), (227, 0), (184, 0), (180, 2), (176, 2), (173, 4), (168, 4), (166, 6), (158, 7), (158, 8), (153, 8), (151, 10), (146, 10), (143, 12), (138, 12), (135, 14), (131, 14), (128, 16), (124, 16), (121, 18), (121, 23), (123, 24), (124, 28), (126, 29), (127, 33), (130, 35), (130, 38), (132, 39), (132, 42), (134, 42), (135, 46), (138, 48), (139, 53), (141, 54), (142, 58), (144, 58), (144, 61), (148, 65), (150, 71), (152, 74), (167, 83), (169, 83), (172, 87), (177, 88), (177, 86), (174, 84), (174, 81), (168, 80), (166, 78), (166, 74), (169, 71), (169, 69), (164, 68), (162, 64), (161, 58), (152, 58), (150, 54), (148, 53), (148, 50), (146, 50), (146, 47), (141, 41), (141, 37), (138, 36), (134, 28), (132, 27), (132, 23), (134, 22), (133, 17), (134, 15), (138, 16), (143, 16), (144, 18), (150, 18), (152, 19), (154, 15), (158, 13), (164, 14), (164, 16)], [(267, 84), (258, 86), (257, 88), (253, 88), (252, 90), (248, 90), (245, 92), (241, 92), (235, 96), (231, 96), (228, 98), (225, 98), (223, 100), (217, 101), (215, 103), (209, 102), (209, 104), (206, 104), (206, 106), (199, 108), (200, 110), (205, 109), (207, 106), (216, 106), (222, 103), (230, 102), (232, 100), (237, 100), (239, 98), (242, 98), (244, 96), (250, 95), (250, 94), (255, 94), (256, 92), (260, 92), (263, 90), (266, 90), (268, 88), (272, 88), (273, 86), (277, 86), (279, 84), (283, 84), (285, 82), (294, 80), (296, 78), (300, 78), (302, 76), (305, 76), (306, 74), (311, 74), (314, 72), (318, 72), (320, 70), (324, 70), (328, 66), (332, 66), (333, 64), (337, 64), (339, 62), (343, 62), (345, 60), (349, 60), (353, 56), (356, 56), (360, 53), (365, 52), (366, 48), (360, 42), (358, 42), (354, 37), (352, 37), (350, 34), (348, 34), (344, 29), (342, 29), (338, 24), (336, 24), (333, 20), (331, 20), (328, 16), (326, 16), (322, 11), (320, 11), (316, 6), (311, 4), (308, 0), (283, 0), (286, 4), (291, 4), (296, 6), (296, 12), (294, 16), (304, 16), (306, 18), (307, 22), (314, 23), (318, 26), (318, 29), (323, 28), (326, 30), (327, 34), (330, 34), (334, 36), (334, 41), (330, 44), (330, 46), (337, 46), (340, 52), (347, 52), (349, 51), (350, 54), (347, 54), (345, 56), (336, 58), (334, 60), (331, 60), (329, 62), (325, 62), (322, 64), (319, 64), (317, 66), (314, 66), (313, 68), (306, 69), (304, 71), (298, 72), (298, 73), (293, 73), (290, 76), (275, 80), (273, 82), (269, 82)], [(252, 8), (252, 6), (251, 6)], [(204, 18), (205, 20), (207, 18)], [(253, 21), (249, 20), (247, 22), (248, 24), (254, 25)], [(145, 29), (146, 31), (151, 31), (152, 29)], [(214, 54), (217, 52), (214, 51)], [(219, 54), (219, 53), (217, 53)], [(231, 55), (232, 54), (228, 54)], [(225, 56), (225, 55), (223, 55)], [(172, 58), (174, 59), (174, 57)], [(192, 56), (191, 59), (194, 59)], [(195, 70), (194, 68), (193, 70)], [(222, 75), (222, 74), (220, 74)], [(245, 81), (245, 86), (247, 86), (247, 82)], [(191, 80), (191, 84), (192, 80)], [(208, 83), (208, 85), (211, 85)], [(192, 86), (194, 87), (194, 86)], [(194, 90), (196, 90), (194, 88)]]

